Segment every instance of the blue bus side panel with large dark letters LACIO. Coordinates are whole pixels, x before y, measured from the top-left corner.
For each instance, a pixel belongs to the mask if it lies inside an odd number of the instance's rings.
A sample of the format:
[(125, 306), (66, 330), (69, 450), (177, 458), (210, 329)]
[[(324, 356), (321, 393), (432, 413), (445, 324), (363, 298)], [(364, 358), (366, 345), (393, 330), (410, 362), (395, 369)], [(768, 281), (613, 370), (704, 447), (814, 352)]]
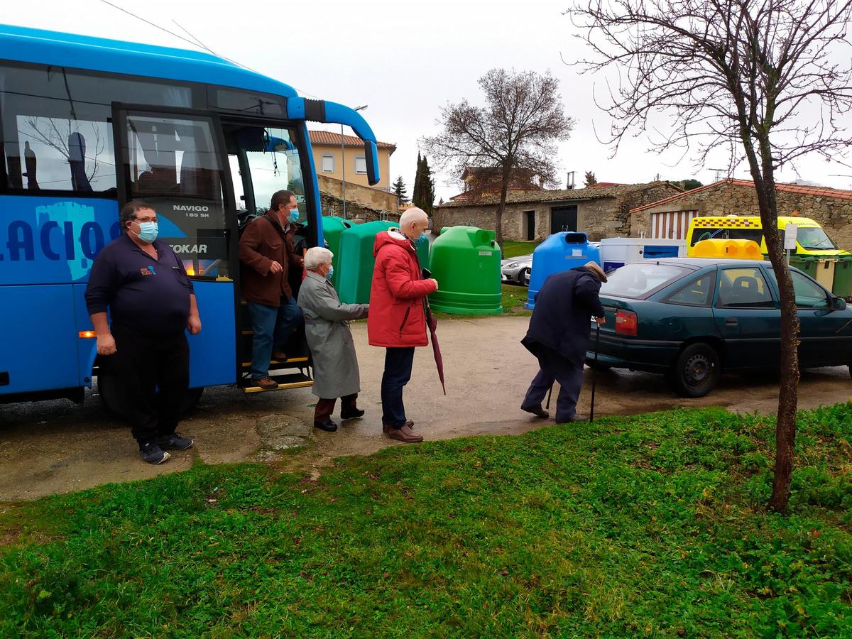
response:
[(118, 233), (118, 204), (114, 200), (3, 197), (0, 283), (87, 282), (95, 256)]

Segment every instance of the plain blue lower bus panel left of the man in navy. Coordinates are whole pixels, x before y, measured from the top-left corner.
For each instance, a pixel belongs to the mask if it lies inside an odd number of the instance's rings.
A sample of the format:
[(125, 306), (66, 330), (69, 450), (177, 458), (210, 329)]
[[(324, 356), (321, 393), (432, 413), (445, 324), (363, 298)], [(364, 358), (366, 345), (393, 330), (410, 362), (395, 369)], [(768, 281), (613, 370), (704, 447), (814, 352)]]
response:
[(0, 286), (0, 394), (72, 389), (78, 383), (74, 301), (69, 285)]

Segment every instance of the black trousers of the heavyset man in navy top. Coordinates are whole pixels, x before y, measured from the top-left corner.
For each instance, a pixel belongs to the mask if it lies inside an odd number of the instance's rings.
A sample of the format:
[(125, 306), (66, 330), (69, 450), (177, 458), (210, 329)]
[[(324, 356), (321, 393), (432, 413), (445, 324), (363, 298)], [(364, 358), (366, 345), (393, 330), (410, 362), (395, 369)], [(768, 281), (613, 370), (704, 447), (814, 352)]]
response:
[(171, 435), (189, 387), (187, 336), (158, 336), (113, 325), (115, 354), (104, 364), (124, 389), (126, 416), (136, 441)]

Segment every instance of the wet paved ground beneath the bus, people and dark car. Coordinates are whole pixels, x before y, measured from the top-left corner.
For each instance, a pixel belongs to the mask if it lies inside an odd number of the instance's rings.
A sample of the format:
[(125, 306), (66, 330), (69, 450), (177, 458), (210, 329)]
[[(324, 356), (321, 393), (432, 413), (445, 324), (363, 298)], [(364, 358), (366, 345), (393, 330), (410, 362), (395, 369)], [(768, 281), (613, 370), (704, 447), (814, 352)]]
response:
[[(527, 317), (442, 320), (439, 327), (446, 366), (446, 397), (441, 393), (431, 348), (417, 349), (412, 382), (406, 388), (408, 417), (428, 439), (462, 435), (510, 435), (543, 425), (518, 406), (537, 371), (519, 343)], [(196, 446), (173, 454), (162, 466), (149, 466), (136, 455), (123, 424), (87, 395), (83, 407), (69, 401), (0, 405), (0, 500), (130, 481), (205, 463), (279, 460), (286, 467), (319, 473), (331, 458), (369, 454), (399, 445), (382, 435), (379, 382), (383, 350), (366, 345), (366, 325), (353, 326), (362, 377), (360, 406), (366, 417), (337, 433), (310, 428), (314, 396), (309, 389), (245, 395), (233, 388), (207, 389), (193, 416), (181, 423)], [(580, 398), (588, 412), (591, 371)], [(845, 367), (803, 375), (799, 406), (810, 408), (849, 400), (852, 383)], [(723, 377), (709, 397), (684, 400), (661, 376), (608, 371), (597, 382), (596, 414), (632, 414), (676, 406), (728, 406), (734, 411), (774, 412), (773, 377)], [(292, 446), (308, 446), (283, 452)]]

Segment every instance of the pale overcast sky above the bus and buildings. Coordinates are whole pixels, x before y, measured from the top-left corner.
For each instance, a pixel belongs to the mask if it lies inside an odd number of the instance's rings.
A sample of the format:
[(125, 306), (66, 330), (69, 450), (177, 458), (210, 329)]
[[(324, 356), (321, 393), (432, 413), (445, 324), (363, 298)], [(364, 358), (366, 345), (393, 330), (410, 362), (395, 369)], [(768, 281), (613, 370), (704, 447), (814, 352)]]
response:
[[(390, 180), (403, 176), (409, 195), (417, 138), (437, 132), (440, 105), (463, 98), (480, 101), (477, 78), (501, 66), (550, 71), (559, 78), (566, 112), (577, 120), (570, 139), (560, 147), (559, 162), (563, 174), (576, 172), (578, 185), (587, 170), (594, 171), (598, 181), (642, 182), (659, 175), (669, 180), (694, 177), (706, 184), (716, 175), (711, 169), (726, 166), (722, 157), (716, 164), (695, 168), (676, 155), (649, 153), (642, 136), (625, 141), (618, 155), (609, 158), (611, 149), (596, 140), (593, 130), (608, 129), (607, 118), (592, 99), (595, 78), (580, 76), (562, 61), (576, 60), (584, 48), (561, 13), (567, 7), (561, 0), (112, 2), (188, 37), (180, 26), (185, 27), (216, 54), (291, 84), (300, 95), (350, 107), (368, 105), (364, 116), (378, 139), (397, 146)], [(0, 20), (190, 48), (99, 0), (6, 2)], [(852, 187), (852, 169), (842, 164), (814, 157), (800, 161), (797, 169), (798, 174), (785, 168), (777, 179)], [(439, 197), (458, 193), (456, 177), (436, 177)], [(734, 177), (749, 176), (738, 170)]]

